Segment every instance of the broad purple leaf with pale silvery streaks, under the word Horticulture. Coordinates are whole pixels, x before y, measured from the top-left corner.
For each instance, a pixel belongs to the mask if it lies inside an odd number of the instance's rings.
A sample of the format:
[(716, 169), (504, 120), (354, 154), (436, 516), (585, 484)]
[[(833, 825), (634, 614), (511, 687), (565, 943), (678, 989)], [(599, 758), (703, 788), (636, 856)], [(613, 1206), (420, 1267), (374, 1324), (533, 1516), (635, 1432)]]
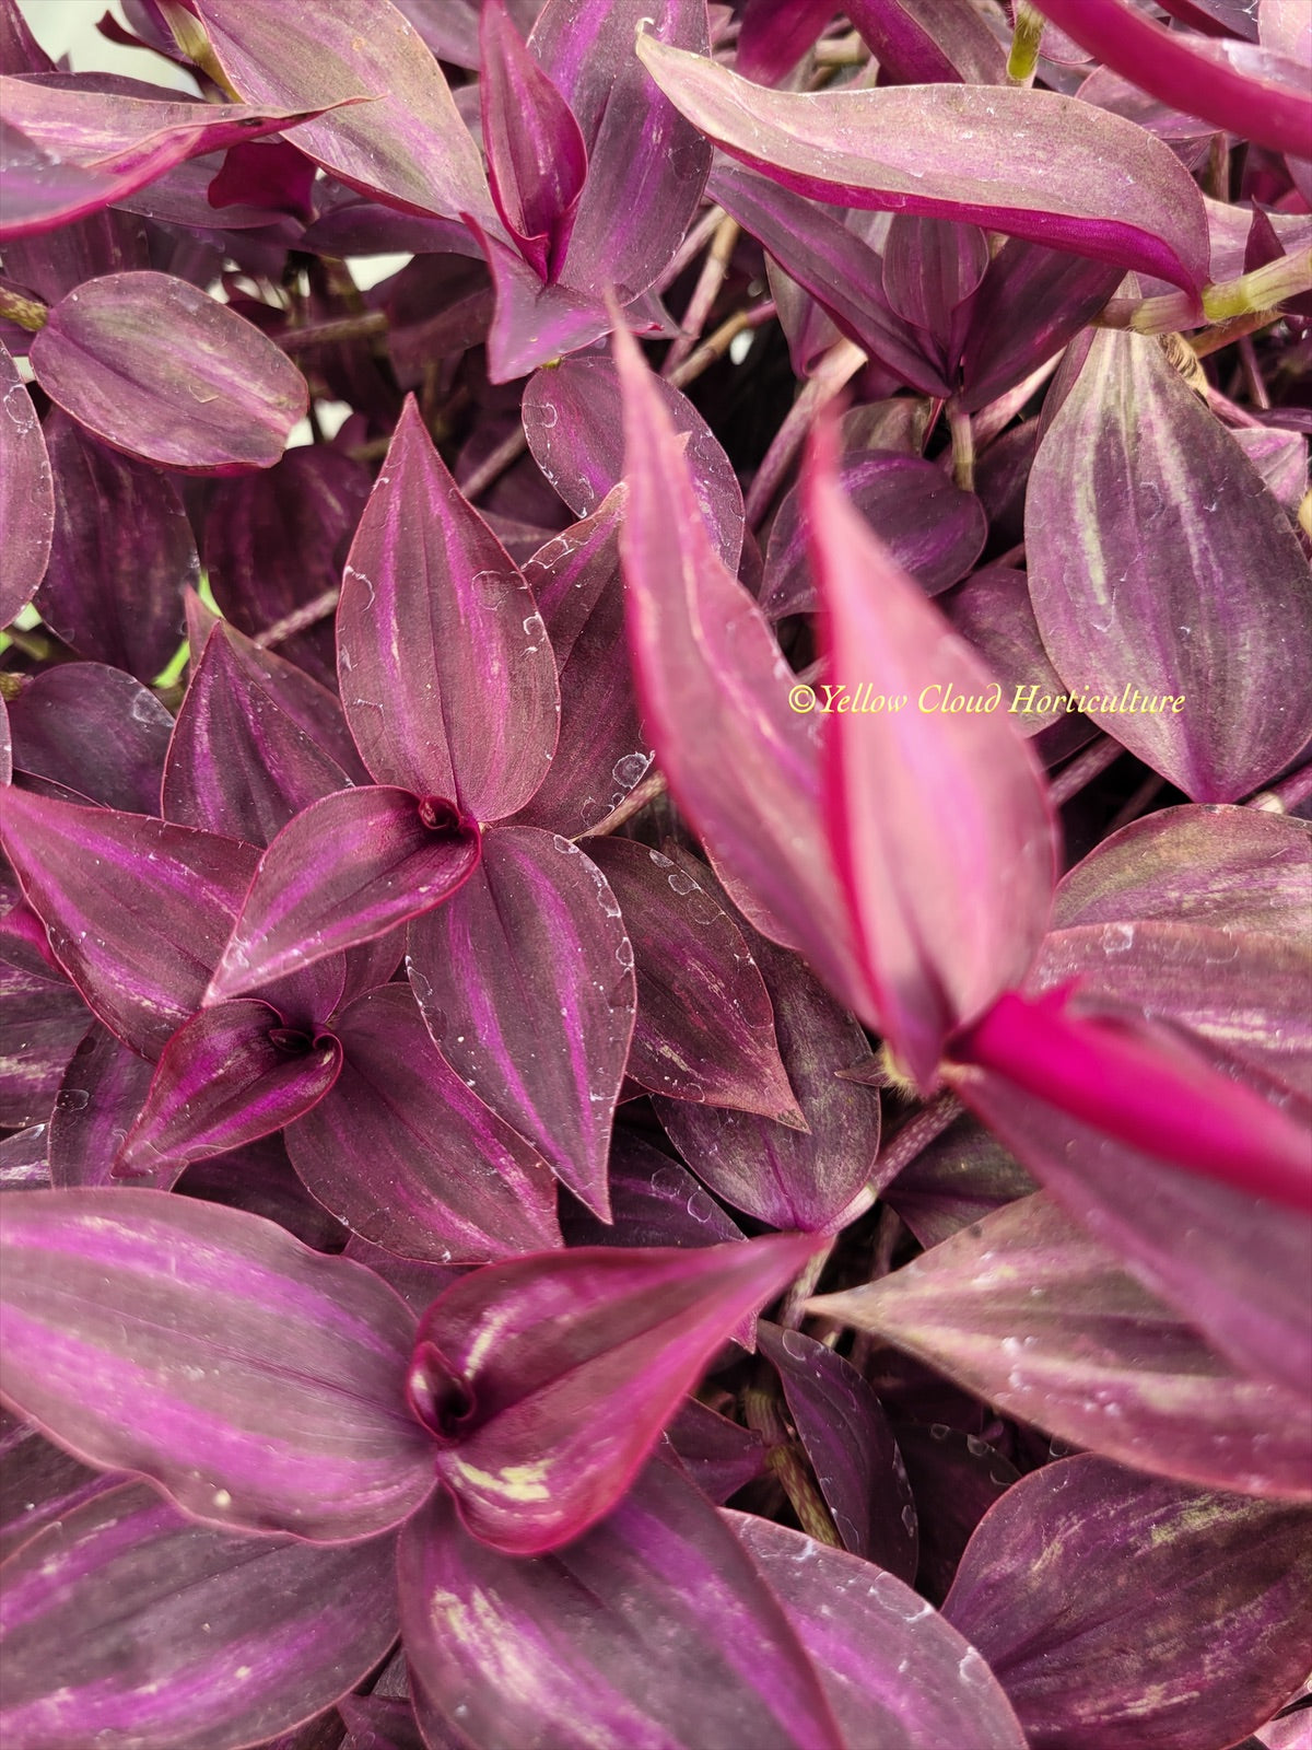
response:
[(1025, 551), (1069, 691), (1197, 802), (1247, 794), (1312, 737), (1298, 537), (1156, 340), (1095, 336), (1034, 458)]

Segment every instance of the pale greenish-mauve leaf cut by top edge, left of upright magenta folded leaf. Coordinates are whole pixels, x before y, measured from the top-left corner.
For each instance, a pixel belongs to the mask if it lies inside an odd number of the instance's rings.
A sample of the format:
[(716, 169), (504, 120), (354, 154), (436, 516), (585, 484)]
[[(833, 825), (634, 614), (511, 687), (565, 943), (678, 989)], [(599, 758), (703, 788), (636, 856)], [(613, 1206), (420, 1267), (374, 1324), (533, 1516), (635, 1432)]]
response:
[(437, 61), (390, 0), (196, 0), (219, 65), (250, 103), (369, 103), (296, 130), (296, 145), (353, 189), (406, 212), (492, 215), (478, 149)]

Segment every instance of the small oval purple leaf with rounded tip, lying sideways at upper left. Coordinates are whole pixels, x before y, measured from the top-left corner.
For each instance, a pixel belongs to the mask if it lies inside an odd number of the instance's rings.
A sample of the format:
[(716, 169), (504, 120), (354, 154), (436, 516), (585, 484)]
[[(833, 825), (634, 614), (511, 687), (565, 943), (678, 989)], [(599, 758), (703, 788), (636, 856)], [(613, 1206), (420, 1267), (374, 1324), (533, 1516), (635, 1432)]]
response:
[(273, 467), (306, 411), (290, 359), (168, 273), (87, 280), (54, 304), (30, 357), (40, 387), (96, 438), (184, 474)]

